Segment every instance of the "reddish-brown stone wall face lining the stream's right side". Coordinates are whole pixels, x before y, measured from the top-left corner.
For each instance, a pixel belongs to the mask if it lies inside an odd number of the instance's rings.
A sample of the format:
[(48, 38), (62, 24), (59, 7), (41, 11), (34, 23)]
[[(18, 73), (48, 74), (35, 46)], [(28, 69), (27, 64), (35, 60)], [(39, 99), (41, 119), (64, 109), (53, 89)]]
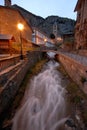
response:
[(87, 66), (83, 66), (69, 56), (58, 54), (58, 61), (64, 66), (71, 79), (87, 94)]

